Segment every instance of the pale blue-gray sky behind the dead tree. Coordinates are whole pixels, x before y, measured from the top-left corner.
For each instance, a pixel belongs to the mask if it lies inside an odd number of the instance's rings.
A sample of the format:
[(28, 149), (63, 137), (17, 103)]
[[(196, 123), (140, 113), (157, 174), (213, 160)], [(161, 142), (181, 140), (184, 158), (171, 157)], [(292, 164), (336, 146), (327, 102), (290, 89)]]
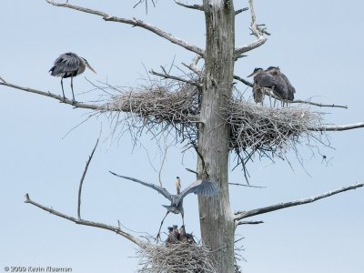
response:
[[(133, 16), (157, 25), (193, 44), (204, 46), (204, 17), (173, 1), (158, 1), (148, 14), (136, 1), (71, 1), (101, 9), (112, 15)], [(117, 2), (123, 2), (118, 4)], [(196, 2), (197, 3), (197, 2)], [(248, 1), (235, 1), (236, 8)], [(363, 120), (361, 103), (362, 48), (364, 24), (362, 1), (258, 1), (258, 23), (265, 23), (272, 34), (259, 47), (236, 64), (235, 74), (247, 76), (256, 66), (280, 66), (296, 86), (297, 98), (348, 105), (348, 110), (312, 108), (328, 113), (328, 123), (345, 124)], [(145, 68), (158, 69), (188, 62), (193, 55), (157, 35), (130, 25), (104, 22), (95, 15), (57, 8), (45, 1), (3, 0), (0, 9), (0, 76), (8, 82), (61, 94), (59, 79), (47, 71), (57, 56), (72, 51), (84, 56), (97, 74), (86, 71), (74, 81), (76, 98), (99, 98), (86, 81), (103, 81), (115, 86), (136, 86), (145, 78)], [(237, 45), (246, 44), (249, 15), (237, 18)], [(144, 64), (144, 65), (143, 65)], [(245, 86), (238, 86), (244, 90)], [(69, 81), (65, 80), (70, 95)], [(80, 227), (41, 211), (24, 201), (25, 193), (36, 201), (76, 216), (79, 178), (85, 167), (102, 123), (103, 135), (86, 176), (83, 216), (89, 220), (116, 225), (117, 219), (135, 231), (155, 235), (165, 214), (167, 200), (151, 189), (116, 179), (108, 170), (157, 183), (155, 167), (161, 155), (151, 136), (142, 138), (132, 153), (130, 137), (110, 142), (105, 116), (81, 123), (89, 111), (72, 109), (42, 96), (0, 87), (2, 134), (0, 162), (0, 272), (5, 266), (71, 267), (73, 272), (136, 272), (135, 247), (125, 238), (91, 227)], [(68, 92), (68, 93), (67, 93)], [(247, 90), (247, 94), (250, 94)], [(287, 162), (268, 160), (249, 163), (251, 183), (265, 189), (231, 187), (234, 210), (263, 207), (301, 197), (310, 197), (338, 187), (363, 181), (364, 144), (362, 129), (330, 133), (335, 149), (321, 147), (329, 165), (319, 154), (311, 157), (306, 144), (299, 152), (305, 167), (299, 166), (293, 152)], [(170, 148), (162, 179), (173, 190), (174, 179), (182, 185), (193, 181), (185, 167), (194, 168), (196, 157)], [(231, 160), (231, 168), (234, 161)], [(231, 182), (242, 183), (235, 170)], [(255, 219), (265, 224), (238, 227), (243, 236), (247, 262), (244, 272), (363, 272), (364, 191), (359, 189), (330, 197), (311, 205), (292, 207)], [(197, 197), (185, 200), (187, 230), (199, 237)], [(169, 215), (164, 228), (181, 224), (180, 216)], [(137, 235), (137, 234), (136, 234)]]

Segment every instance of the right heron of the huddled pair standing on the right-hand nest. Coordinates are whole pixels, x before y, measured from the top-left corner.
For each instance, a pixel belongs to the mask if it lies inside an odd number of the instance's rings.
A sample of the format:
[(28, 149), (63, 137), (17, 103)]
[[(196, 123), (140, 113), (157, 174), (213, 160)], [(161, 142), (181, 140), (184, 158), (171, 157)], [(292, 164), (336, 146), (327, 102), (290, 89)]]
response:
[(288, 101), (292, 101), (295, 98), (296, 89), (291, 85), (288, 77), (280, 71), (278, 66), (269, 66), (266, 71), (276, 78), (278, 82), (277, 93), (283, 99), (283, 105), (285, 102), (288, 104)]

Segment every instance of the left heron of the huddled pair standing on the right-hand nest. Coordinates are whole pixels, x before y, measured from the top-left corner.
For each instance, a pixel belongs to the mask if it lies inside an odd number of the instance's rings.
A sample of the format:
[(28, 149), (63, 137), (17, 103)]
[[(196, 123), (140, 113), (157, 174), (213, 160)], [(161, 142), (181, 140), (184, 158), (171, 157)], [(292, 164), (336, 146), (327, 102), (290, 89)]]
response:
[[(263, 105), (264, 96), (266, 94), (266, 88), (273, 89), (274, 86), (277, 85), (276, 79), (267, 71), (264, 71), (263, 68), (255, 68), (253, 73), (249, 76), (254, 76), (254, 85), (253, 85), (253, 97), (256, 103), (261, 103)], [(248, 77), (249, 77), (248, 76)]]

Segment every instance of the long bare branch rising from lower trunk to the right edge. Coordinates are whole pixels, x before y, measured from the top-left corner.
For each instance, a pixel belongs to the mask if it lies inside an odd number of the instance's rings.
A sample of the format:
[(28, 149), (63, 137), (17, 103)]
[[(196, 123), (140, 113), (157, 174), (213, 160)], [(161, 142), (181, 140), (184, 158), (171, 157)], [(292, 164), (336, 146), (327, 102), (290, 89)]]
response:
[(336, 194), (339, 194), (341, 192), (347, 191), (347, 190), (351, 190), (351, 189), (356, 189), (358, 187), (363, 187), (364, 183), (357, 183), (348, 187), (341, 187), (339, 189), (333, 190), (333, 191), (329, 191), (327, 193), (323, 193), (319, 196), (316, 197), (308, 197), (306, 199), (301, 199), (301, 200), (297, 200), (297, 201), (291, 201), (291, 202), (287, 202), (287, 203), (279, 203), (276, 205), (272, 205), (272, 206), (268, 206), (268, 207), (260, 207), (260, 208), (256, 208), (256, 209), (252, 209), (252, 210), (248, 210), (248, 211), (238, 211), (237, 213), (235, 213), (235, 220), (238, 221), (242, 218), (246, 218), (246, 217), (253, 217), (259, 214), (264, 214), (264, 213), (268, 213), (271, 211), (275, 211), (278, 209), (282, 209), (282, 208), (287, 208), (287, 207), (293, 207), (293, 206), (299, 206), (299, 205), (304, 205), (304, 204), (308, 204), (308, 203), (312, 203), (315, 202), (319, 199), (322, 198), (326, 198), (326, 197), (330, 197)]

